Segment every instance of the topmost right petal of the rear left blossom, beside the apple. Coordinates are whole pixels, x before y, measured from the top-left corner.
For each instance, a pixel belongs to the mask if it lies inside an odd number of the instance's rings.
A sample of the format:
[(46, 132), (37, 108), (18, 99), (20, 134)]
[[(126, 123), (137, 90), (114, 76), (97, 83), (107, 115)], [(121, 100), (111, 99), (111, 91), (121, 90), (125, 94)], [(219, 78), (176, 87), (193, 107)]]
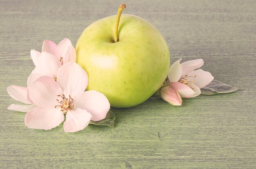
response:
[(76, 62), (76, 51), (69, 39), (65, 38), (58, 44), (56, 56), (63, 58), (63, 64)]

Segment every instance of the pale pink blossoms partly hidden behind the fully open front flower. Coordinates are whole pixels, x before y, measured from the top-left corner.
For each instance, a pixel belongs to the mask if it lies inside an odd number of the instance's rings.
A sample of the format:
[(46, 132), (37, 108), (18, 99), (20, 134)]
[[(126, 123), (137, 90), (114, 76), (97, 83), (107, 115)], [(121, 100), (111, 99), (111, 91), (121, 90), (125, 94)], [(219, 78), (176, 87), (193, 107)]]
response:
[[(76, 62), (76, 52), (69, 39), (62, 40), (58, 45), (50, 40), (45, 40), (42, 45), (42, 53), (31, 50), (31, 59), (36, 68), (27, 79), (27, 86), (41, 76), (50, 76), (56, 79), (58, 69), (67, 62)], [(29, 98), (26, 87), (11, 85), (7, 87), (8, 94), (15, 100), (26, 105), (12, 104), (7, 109), (27, 112), (36, 107)]]

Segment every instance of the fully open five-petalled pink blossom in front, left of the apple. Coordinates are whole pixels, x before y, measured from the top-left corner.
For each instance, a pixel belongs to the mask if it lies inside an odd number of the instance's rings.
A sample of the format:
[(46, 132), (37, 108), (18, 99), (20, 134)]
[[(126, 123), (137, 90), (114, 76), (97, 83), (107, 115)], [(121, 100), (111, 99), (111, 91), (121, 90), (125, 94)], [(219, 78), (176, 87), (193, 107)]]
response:
[(66, 132), (84, 129), (90, 122), (106, 117), (110, 103), (98, 91), (85, 91), (87, 73), (76, 63), (63, 64), (56, 81), (41, 76), (29, 85), (29, 96), (38, 107), (25, 116), (25, 125), (32, 129), (52, 129), (64, 121)]

